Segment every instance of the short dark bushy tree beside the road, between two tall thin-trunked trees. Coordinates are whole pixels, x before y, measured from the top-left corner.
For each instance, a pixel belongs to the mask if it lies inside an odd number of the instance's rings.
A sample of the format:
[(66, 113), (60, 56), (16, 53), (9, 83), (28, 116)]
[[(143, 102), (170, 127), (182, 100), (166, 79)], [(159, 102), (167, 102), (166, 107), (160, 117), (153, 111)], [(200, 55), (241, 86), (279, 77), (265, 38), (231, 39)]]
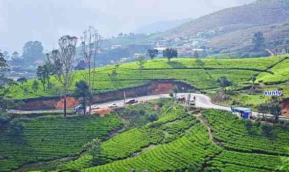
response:
[(87, 99), (90, 100), (92, 97), (92, 94), (89, 90), (89, 85), (85, 80), (80, 80), (76, 82), (75, 84), (76, 90), (75, 90), (75, 97), (81, 99), (81, 104), (83, 107), (83, 114), (85, 115), (86, 112), (86, 101)]

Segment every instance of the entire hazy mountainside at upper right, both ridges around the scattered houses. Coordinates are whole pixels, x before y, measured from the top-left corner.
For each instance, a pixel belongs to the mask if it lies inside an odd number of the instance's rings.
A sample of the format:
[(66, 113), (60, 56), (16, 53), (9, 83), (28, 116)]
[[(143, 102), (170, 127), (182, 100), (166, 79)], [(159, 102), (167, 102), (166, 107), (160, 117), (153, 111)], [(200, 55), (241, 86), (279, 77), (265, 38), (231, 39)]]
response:
[[(263, 32), (266, 46), (289, 44), (289, 0), (259, 0), (244, 6), (220, 10), (191, 20), (150, 39), (197, 37), (198, 33), (217, 34), (202, 38), (204, 45), (220, 52), (237, 51), (251, 45), (254, 33)], [(222, 33), (220, 33), (222, 28)]]

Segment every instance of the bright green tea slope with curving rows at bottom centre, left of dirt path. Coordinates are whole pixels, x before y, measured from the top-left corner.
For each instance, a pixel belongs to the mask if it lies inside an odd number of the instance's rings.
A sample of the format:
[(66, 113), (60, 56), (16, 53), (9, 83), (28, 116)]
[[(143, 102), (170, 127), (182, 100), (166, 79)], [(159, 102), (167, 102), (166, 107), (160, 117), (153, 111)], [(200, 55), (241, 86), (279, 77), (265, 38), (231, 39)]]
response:
[(205, 159), (221, 149), (208, 140), (204, 125), (196, 124), (184, 136), (168, 144), (140, 153), (137, 157), (87, 168), (83, 171), (179, 171), (202, 169)]

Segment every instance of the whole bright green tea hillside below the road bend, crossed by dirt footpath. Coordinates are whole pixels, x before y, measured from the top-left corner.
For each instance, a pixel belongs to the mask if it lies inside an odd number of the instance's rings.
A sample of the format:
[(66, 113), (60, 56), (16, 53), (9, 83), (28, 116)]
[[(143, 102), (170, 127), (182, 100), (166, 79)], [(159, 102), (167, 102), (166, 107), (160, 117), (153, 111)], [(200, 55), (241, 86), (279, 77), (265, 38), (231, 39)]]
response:
[[(272, 171), (282, 160), (276, 155), (288, 156), (286, 128), (274, 126), (279, 139), (271, 139), (261, 135), (257, 125), (256, 133), (248, 134), (245, 121), (225, 111), (205, 110), (196, 115), (177, 106), (162, 109), (167, 112), (157, 122), (103, 142), (102, 154), (97, 156), (101, 164), (93, 165), (92, 157), (84, 155), (68, 163), (65, 171)], [(263, 165), (268, 158), (270, 162)]]

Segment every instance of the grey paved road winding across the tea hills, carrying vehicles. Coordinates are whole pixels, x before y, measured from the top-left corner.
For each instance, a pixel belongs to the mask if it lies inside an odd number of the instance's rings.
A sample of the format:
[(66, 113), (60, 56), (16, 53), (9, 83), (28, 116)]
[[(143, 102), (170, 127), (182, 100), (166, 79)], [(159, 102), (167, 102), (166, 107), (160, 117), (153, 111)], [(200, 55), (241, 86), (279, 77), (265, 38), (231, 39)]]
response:
[[(185, 95), (187, 96), (188, 93), (179, 93), (178, 96)], [(213, 108), (213, 109), (222, 109), (222, 110), (228, 110), (230, 111), (231, 108), (227, 106), (220, 106), (213, 104), (211, 102), (211, 99), (209, 96), (204, 95), (204, 94), (197, 94), (197, 93), (190, 93), (191, 97), (196, 97), (196, 106), (198, 107), (203, 107), (203, 108)], [(160, 94), (160, 95), (151, 95), (151, 96), (142, 96), (142, 97), (137, 97), (133, 98), (138, 101), (149, 101), (149, 100), (154, 100), (154, 99), (159, 99), (159, 98), (168, 98), (170, 97), (169, 94)], [(127, 99), (130, 100), (130, 99)], [(113, 102), (107, 102), (107, 103), (101, 103), (98, 104), (100, 108), (108, 108), (112, 103), (116, 103), (118, 107), (124, 106), (124, 100), (117, 100)], [(72, 109), (69, 109), (72, 110)], [(62, 112), (63, 109), (57, 109), (57, 110), (35, 110), (35, 111), (21, 111), (22, 114), (27, 114), (27, 113), (47, 113), (47, 112)], [(20, 113), (18, 110), (8, 110), (8, 112), (14, 112), (14, 113)], [(253, 112), (254, 116), (258, 115), (258, 112)], [(273, 117), (273, 115), (268, 114), (268, 117)], [(289, 120), (289, 118), (286, 117), (281, 117), (284, 119)]]

